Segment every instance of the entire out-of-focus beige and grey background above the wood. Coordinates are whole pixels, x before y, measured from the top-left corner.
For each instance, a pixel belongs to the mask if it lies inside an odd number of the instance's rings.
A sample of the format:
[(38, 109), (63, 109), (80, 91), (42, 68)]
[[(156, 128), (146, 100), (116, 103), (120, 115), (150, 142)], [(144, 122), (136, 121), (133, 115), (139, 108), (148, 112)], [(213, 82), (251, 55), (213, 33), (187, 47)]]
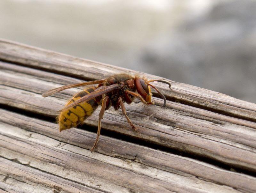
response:
[(255, 0), (0, 0), (0, 38), (256, 103)]

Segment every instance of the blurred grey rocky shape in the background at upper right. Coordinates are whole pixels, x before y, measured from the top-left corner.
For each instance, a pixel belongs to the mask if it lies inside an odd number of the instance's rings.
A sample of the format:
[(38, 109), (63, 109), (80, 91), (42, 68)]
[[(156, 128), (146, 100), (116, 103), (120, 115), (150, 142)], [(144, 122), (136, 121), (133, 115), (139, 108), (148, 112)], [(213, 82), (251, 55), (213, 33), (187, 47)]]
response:
[(256, 102), (256, 1), (217, 4), (152, 40), (139, 63), (156, 75)]

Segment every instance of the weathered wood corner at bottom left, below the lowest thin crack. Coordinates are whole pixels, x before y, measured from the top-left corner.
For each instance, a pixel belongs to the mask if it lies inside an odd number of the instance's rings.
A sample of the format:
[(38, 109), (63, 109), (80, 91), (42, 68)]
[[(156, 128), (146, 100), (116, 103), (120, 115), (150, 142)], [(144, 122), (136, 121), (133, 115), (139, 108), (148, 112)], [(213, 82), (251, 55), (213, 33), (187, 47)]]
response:
[[(3, 153), (2, 153), (3, 154)], [(8, 186), (16, 187), (14, 192), (36, 192), (36, 193), (52, 193), (52, 192), (102, 192), (97, 189), (86, 187), (72, 181), (63, 179), (49, 173), (42, 172), (29, 164), (19, 163), (18, 159), (8, 160), (0, 158), (0, 179), (4, 182), (0, 187), (8, 190)], [(19, 188), (17, 188), (19, 187)]]

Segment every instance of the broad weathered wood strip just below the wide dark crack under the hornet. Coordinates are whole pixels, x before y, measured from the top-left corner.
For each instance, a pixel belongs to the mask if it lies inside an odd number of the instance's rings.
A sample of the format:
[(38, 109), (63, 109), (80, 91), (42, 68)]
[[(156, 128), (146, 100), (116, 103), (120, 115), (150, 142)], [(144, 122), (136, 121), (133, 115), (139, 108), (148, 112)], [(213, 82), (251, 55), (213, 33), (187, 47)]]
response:
[[(102, 136), (101, 154), (92, 154), (91, 132), (74, 129), (68, 135), (58, 136), (58, 128), (51, 122), (6, 110), (0, 113), (4, 115), (0, 120), (0, 156), (4, 158), (0, 158), (4, 163), (0, 174), (5, 176), (15, 175), (18, 179), (24, 176), (27, 181), (59, 189), (71, 180), (110, 192), (254, 192), (256, 189), (256, 179), (251, 176), (110, 137)], [(10, 167), (14, 167), (11, 172)], [(45, 177), (50, 174), (54, 176)], [(59, 176), (63, 183), (56, 180)]]

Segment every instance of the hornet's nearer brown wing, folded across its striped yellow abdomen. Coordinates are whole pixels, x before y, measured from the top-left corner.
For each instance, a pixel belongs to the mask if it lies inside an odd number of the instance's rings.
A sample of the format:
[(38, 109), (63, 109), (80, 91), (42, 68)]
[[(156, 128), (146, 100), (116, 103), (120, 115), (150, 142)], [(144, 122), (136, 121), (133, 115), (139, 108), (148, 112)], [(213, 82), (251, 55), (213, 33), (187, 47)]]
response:
[(72, 108), (72, 107), (78, 105), (81, 102), (86, 102), (88, 100), (91, 100), (91, 99), (93, 99), (95, 97), (98, 97), (98, 96), (100, 96), (102, 94), (109, 93), (109, 92), (111, 92), (111, 91), (113, 91), (115, 89), (118, 89), (118, 88), (122, 88), (122, 86), (120, 84), (114, 84), (114, 85), (110, 85), (110, 86), (104, 87), (104, 88), (102, 88), (100, 90), (93, 91), (92, 93), (83, 96), (82, 98), (76, 100), (75, 102), (71, 103), (70, 105), (66, 106), (65, 108), (62, 108), (58, 112), (63, 112), (65, 110), (68, 110), (69, 108)]

